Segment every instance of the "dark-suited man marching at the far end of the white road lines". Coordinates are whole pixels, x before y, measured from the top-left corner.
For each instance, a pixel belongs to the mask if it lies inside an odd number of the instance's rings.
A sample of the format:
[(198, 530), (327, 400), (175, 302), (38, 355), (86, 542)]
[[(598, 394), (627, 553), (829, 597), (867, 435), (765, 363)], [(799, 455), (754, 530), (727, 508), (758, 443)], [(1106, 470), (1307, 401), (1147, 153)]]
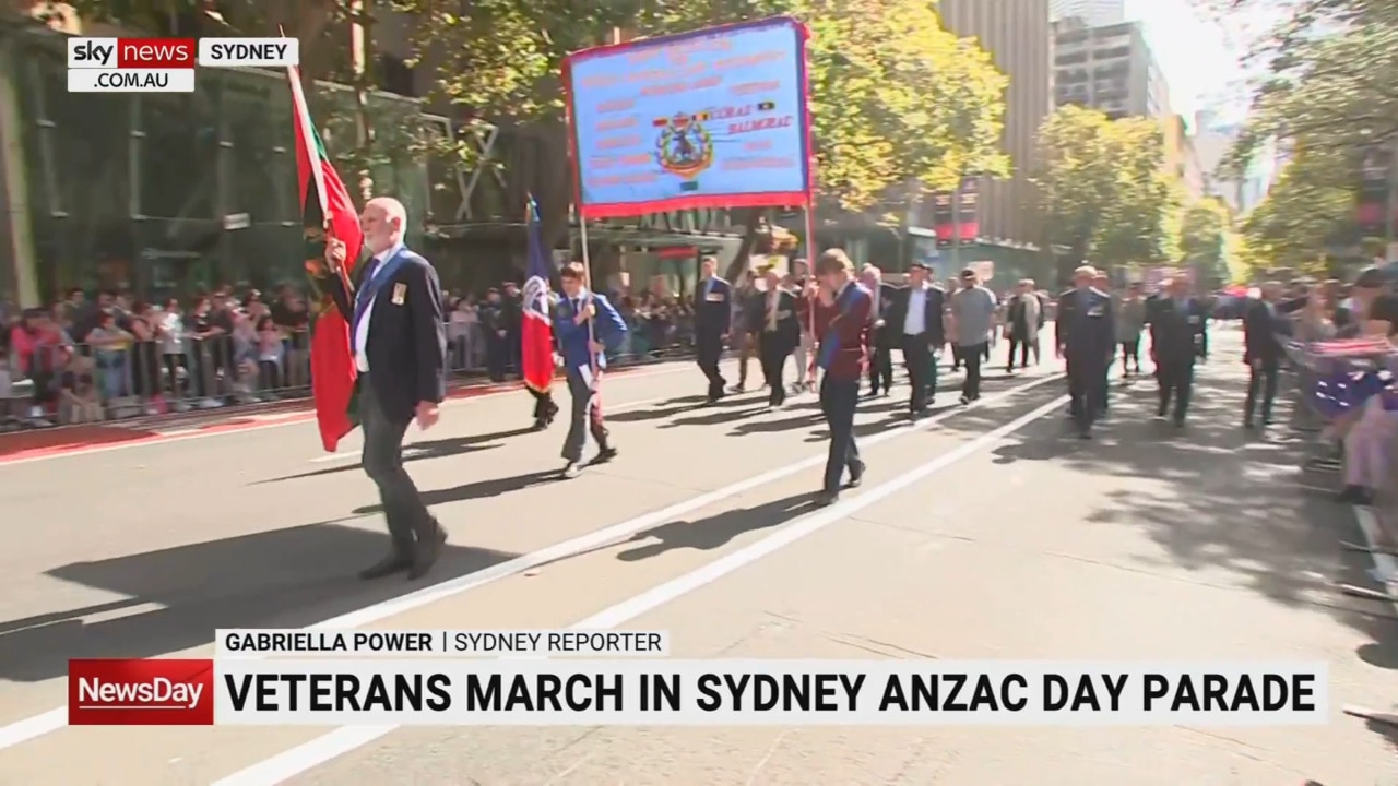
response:
[(1102, 415), (1107, 368), (1117, 341), (1111, 296), (1092, 288), (1095, 276), (1090, 266), (1074, 271), (1074, 288), (1058, 295), (1054, 322), (1057, 355), (1068, 365), (1068, 413), (1082, 439), (1092, 438), (1092, 424)]

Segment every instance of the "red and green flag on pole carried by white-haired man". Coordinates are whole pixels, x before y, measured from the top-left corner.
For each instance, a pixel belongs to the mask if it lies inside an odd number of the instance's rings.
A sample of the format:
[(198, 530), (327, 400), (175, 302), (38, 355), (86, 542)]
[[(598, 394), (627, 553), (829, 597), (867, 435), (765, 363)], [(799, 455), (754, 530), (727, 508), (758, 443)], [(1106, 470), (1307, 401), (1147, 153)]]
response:
[(359, 259), (363, 234), (350, 192), (326, 157), (316, 126), (310, 122), (301, 74), (287, 67), (296, 129), (296, 179), (301, 194), (302, 227), (306, 238), (306, 276), (310, 280), (310, 396), (316, 403), (320, 442), (334, 452), (356, 422), (352, 413), (355, 366), (350, 352), (350, 322), (327, 294), (330, 270), (326, 266), (326, 236), (345, 245), (341, 281), (350, 291), (350, 269)]

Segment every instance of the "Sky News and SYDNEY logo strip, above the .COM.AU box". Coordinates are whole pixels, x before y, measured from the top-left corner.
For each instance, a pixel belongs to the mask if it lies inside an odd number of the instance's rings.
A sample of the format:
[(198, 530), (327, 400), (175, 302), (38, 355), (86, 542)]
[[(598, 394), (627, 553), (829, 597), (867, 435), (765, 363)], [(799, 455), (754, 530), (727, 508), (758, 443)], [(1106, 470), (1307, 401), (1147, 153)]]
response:
[(70, 38), (69, 69), (280, 69), (301, 63), (295, 38)]

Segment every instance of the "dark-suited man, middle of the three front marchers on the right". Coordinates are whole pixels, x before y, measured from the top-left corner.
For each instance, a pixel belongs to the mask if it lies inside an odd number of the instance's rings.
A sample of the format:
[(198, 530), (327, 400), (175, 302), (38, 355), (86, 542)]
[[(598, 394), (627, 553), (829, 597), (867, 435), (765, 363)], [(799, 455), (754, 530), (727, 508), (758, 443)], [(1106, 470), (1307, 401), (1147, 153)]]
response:
[(1174, 401), (1174, 425), (1183, 427), (1194, 392), (1194, 361), (1202, 355), (1205, 306), (1190, 296), (1190, 283), (1172, 278), (1165, 291), (1151, 298), (1146, 308), (1151, 324), (1151, 354), (1155, 357), (1155, 379), (1160, 406), (1156, 417), (1165, 417)]

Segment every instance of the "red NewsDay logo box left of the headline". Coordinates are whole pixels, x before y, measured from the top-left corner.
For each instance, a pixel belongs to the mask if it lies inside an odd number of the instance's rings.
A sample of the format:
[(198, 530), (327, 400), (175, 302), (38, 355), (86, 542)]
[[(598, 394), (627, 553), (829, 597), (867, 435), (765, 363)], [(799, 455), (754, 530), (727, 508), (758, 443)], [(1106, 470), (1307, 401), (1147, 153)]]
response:
[(214, 662), (69, 662), (69, 726), (212, 726)]

